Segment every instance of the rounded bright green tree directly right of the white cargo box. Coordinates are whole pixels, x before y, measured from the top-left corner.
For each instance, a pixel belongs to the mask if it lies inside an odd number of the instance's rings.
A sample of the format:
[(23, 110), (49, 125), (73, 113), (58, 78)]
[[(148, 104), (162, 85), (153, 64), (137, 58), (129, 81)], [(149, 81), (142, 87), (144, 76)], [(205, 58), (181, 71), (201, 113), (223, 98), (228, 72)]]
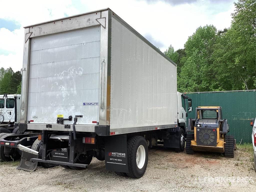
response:
[(197, 28), (185, 43), (185, 63), (178, 76), (178, 91), (210, 91), (214, 74), (212, 53), (217, 29), (214, 26)]

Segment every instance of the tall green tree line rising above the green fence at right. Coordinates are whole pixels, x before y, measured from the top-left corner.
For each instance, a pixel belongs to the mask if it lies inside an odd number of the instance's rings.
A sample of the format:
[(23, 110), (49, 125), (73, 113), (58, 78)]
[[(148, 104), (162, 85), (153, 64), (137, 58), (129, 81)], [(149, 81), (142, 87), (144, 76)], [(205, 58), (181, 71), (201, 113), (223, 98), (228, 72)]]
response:
[(256, 1), (239, 0), (231, 26), (217, 31), (198, 27), (184, 49), (164, 52), (177, 64), (180, 92), (250, 90), (256, 88)]

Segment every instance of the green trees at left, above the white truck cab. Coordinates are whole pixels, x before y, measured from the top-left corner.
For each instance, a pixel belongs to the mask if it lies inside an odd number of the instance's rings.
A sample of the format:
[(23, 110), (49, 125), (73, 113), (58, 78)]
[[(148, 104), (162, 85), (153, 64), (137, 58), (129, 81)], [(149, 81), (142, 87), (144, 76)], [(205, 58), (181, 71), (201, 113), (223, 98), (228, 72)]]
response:
[(0, 94), (21, 94), (22, 72), (12, 68), (0, 69)]

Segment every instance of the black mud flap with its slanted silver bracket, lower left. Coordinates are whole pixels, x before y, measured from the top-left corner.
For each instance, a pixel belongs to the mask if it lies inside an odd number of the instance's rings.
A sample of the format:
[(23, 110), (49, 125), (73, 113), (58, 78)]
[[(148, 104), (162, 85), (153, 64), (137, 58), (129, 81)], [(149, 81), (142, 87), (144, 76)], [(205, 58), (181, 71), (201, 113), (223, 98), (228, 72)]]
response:
[(37, 167), (37, 162), (31, 159), (38, 158), (38, 152), (21, 144), (18, 145), (18, 149), (22, 151), (22, 155), (17, 169), (33, 172)]

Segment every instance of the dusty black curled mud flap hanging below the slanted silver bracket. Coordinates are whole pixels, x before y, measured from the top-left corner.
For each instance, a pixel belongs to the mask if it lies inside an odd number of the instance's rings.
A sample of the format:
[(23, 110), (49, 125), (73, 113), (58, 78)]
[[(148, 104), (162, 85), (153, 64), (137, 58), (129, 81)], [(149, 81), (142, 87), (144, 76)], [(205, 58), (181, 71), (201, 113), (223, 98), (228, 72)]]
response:
[(38, 158), (38, 155), (22, 151), (20, 164), (17, 169), (33, 172), (37, 167), (37, 161), (31, 161), (30, 159), (32, 158)]

